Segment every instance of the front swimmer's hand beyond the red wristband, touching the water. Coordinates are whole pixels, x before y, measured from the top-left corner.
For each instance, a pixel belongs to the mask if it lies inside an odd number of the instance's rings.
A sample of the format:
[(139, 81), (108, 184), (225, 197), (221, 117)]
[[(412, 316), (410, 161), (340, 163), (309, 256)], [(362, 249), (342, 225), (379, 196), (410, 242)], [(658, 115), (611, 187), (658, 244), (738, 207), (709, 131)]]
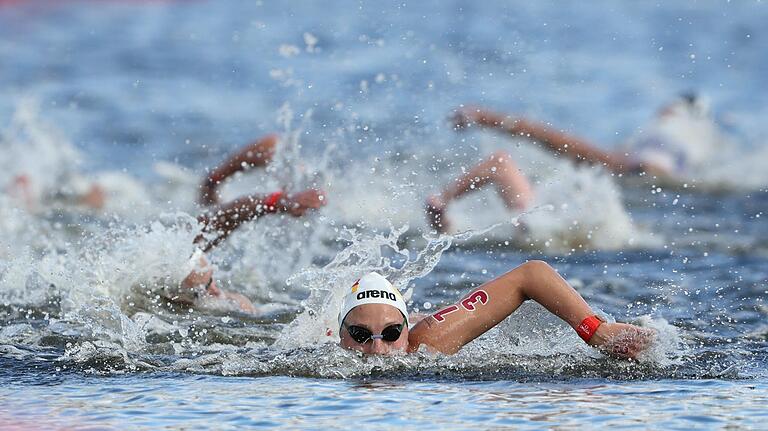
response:
[(622, 359), (637, 359), (656, 338), (656, 331), (627, 323), (603, 323), (589, 344)]

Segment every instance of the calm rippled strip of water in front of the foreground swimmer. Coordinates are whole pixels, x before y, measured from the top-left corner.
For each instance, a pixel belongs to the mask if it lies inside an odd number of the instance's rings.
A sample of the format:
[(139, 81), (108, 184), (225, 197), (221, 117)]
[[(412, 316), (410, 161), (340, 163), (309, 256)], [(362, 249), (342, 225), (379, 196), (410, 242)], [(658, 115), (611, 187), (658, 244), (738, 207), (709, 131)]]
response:
[[(55, 391), (52, 394), (51, 390)], [(369, 429), (542, 427), (756, 428), (765, 420), (766, 383), (713, 380), (617, 384), (335, 381), (289, 377), (153, 375), (64, 379), (30, 386), (39, 401), (10, 401), (20, 429), (195, 427)], [(3, 395), (7, 391), (3, 390)], [(237, 394), (237, 396), (232, 396)], [(308, 397), (308, 394), (311, 394)], [(12, 416), (13, 417), (13, 416)], [(56, 419), (53, 419), (56, 418)], [(97, 425), (98, 424), (98, 425)]]

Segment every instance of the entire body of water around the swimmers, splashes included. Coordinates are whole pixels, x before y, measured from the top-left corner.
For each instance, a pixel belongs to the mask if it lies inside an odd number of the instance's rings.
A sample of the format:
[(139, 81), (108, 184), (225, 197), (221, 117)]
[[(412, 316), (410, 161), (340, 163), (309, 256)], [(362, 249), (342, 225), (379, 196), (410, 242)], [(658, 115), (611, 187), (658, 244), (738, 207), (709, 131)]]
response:
[[(33, 97), (40, 122), (80, 150), (83, 170), (125, 171), (151, 204), (109, 224), (2, 202), (0, 424), (759, 428), (768, 371), (766, 18), (754, 2), (2, 5), (2, 124)], [(428, 247), (417, 233), (421, 199), (460, 166), (505, 148), (524, 170), (540, 168), (540, 157), (505, 139), (454, 135), (444, 121), (451, 108), (525, 113), (610, 147), (689, 89), (711, 98), (743, 160), (658, 191), (552, 162), (559, 174), (538, 186), (557, 210), (531, 216), (532, 240), (501, 227), (459, 242), (431, 271), (405, 264), (428, 274), (401, 280), (424, 309), (545, 259), (597, 308), (675, 340), (648, 362), (602, 358), (535, 307), (454, 358), (361, 359), (315, 346), (303, 321), (286, 327), (310, 287), (359, 271), (318, 269), (345, 246), (394, 268), (405, 260), (395, 248), (413, 260)], [(190, 234), (160, 214), (199, 210), (169, 204), (180, 192), (153, 187), (167, 180), (155, 163), (189, 168), (190, 194), (195, 172), (282, 131), (281, 110), (293, 113), (299, 159), (321, 172), (329, 207), (306, 222), (265, 220), (214, 257), (235, 290), (271, 308), (252, 319), (142, 304), (133, 281), (190, 252)], [(490, 194), (468, 202), (456, 210), (464, 227), (505, 219)], [(578, 209), (560, 212), (561, 204)], [(158, 220), (165, 230), (144, 228)], [(359, 220), (367, 233), (342, 232)], [(399, 241), (370, 238), (390, 224), (410, 229)], [(121, 278), (130, 272), (139, 276)], [(316, 296), (303, 305), (333, 314)]]

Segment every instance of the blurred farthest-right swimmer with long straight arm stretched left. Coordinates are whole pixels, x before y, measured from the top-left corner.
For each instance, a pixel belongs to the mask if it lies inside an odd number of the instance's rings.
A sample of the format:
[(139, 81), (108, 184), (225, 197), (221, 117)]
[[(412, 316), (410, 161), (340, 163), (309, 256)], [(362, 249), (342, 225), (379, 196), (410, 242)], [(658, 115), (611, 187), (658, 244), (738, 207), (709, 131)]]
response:
[(680, 181), (720, 154), (726, 141), (707, 104), (695, 94), (683, 94), (662, 107), (650, 127), (617, 151), (522, 117), (465, 107), (453, 117), (457, 130), (478, 125), (522, 136), (576, 163), (600, 165), (617, 175), (650, 175)]

